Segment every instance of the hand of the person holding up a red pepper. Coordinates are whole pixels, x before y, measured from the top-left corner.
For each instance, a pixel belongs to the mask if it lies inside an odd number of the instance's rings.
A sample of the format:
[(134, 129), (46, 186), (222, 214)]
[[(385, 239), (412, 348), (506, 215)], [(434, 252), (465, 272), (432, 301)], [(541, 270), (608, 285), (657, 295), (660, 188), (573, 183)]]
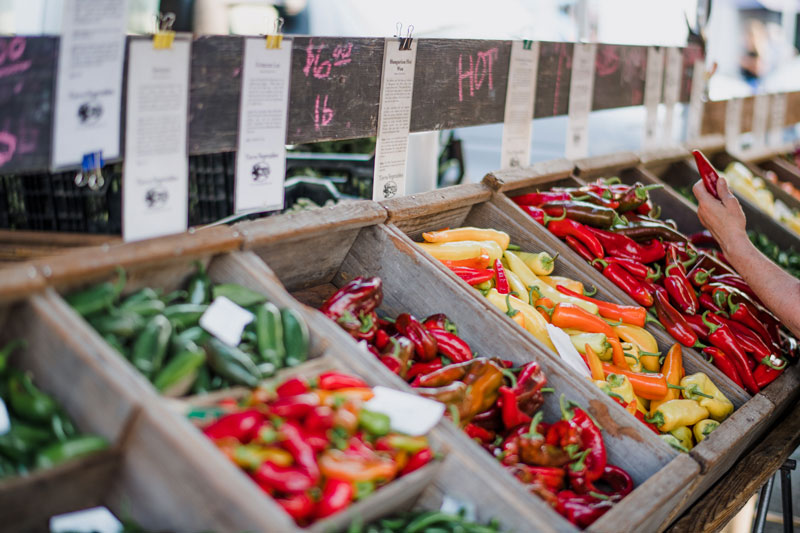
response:
[(728, 254), (729, 249), (741, 239), (747, 240), (747, 220), (742, 206), (731, 193), (724, 177), (720, 176), (717, 181), (719, 200), (706, 190), (702, 180), (694, 184), (692, 192), (699, 202), (697, 216), (700, 222), (717, 240), (723, 253)]

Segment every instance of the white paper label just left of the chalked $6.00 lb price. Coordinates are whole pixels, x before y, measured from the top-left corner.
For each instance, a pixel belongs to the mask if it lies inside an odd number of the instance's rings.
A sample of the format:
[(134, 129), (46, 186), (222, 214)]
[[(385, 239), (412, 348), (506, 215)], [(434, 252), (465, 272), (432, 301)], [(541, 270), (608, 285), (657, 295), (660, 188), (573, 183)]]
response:
[(286, 121), (292, 40), (268, 49), (264, 38), (244, 41), (239, 148), (236, 153), (236, 212), (283, 208)]

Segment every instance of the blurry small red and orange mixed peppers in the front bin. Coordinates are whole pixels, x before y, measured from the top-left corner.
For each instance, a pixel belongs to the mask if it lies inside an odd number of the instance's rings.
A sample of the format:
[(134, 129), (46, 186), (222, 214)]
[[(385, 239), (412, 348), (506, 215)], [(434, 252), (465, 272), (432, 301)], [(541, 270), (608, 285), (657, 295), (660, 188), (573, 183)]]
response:
[(348, 374), (296, 377), (227, 402), (203, 432), (304, 526), (433, 459), (426, 437), (392, 433), (388, 416), (363, 407), (372, 396)]

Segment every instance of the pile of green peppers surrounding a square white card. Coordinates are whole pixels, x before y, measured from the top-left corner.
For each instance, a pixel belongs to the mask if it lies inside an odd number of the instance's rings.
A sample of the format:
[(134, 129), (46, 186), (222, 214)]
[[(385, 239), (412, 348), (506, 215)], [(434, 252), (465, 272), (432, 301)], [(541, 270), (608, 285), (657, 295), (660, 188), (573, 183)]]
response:
[[(72, 308), (161, 394), (203, 394), (233, 385), (256, 387), (278, 369), (308, 357), (308, 327), (292, 309), (235, 283), (213, 284), (203, 266), (184, 290), (162, 295), (146, 287), (122, 296), (125, 272), (66, 296)], [(228, 346), (200, 327), (209, 304), (224, 296), (255, 319), (238, 346)]]

